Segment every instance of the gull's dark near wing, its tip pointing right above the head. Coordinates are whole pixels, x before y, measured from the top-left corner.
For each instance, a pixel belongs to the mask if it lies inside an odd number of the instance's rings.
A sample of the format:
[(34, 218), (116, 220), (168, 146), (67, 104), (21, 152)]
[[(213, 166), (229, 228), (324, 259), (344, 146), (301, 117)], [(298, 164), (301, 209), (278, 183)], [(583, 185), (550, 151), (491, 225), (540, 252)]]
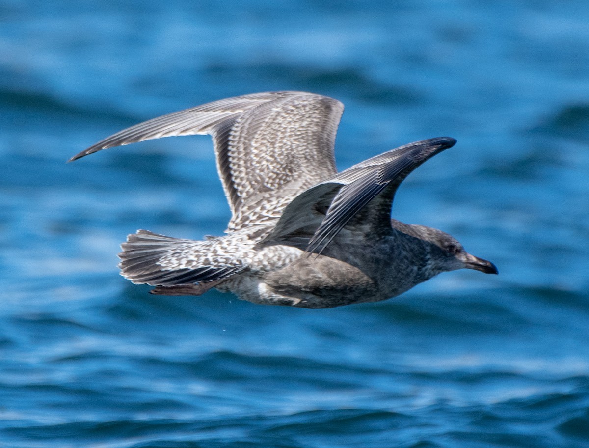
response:
[(398, 186), (416, 167), (454, 146), (455, 139), (416, 141), (360, 162), (306, 190), (284, 209), (267, 242), (321, 253), (346, 225), (391, 228)]

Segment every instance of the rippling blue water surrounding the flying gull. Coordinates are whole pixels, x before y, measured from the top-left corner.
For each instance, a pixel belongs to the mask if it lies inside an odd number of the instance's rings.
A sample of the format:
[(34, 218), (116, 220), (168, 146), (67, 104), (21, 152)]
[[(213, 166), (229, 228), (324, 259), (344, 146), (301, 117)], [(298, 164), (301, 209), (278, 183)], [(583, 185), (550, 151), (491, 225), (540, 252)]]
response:
[[(585, 0), (0, 1), (0, 446), (589, 446), (588, 24)], [(225, 228), (210, 139), (65, 160), (269, 90), (346, 104), (341, 169), (458, 139), (393, 214), (500, 275), (328, 310), (121, 278), (136, 229)]]

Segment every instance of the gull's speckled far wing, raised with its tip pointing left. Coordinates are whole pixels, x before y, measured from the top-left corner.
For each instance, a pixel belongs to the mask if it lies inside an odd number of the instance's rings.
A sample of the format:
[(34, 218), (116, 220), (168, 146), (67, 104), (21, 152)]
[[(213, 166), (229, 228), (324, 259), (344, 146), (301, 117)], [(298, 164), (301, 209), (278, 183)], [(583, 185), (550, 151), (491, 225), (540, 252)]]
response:
[(300, 192), (336, 173), (333, 146), (342, 112), (339, 101), (311, 93), (243, 95), (136, 124), (70, 160), (143, 140), (211, 134), (233, 213), (228, 230), (236, 230), (277, 219)]

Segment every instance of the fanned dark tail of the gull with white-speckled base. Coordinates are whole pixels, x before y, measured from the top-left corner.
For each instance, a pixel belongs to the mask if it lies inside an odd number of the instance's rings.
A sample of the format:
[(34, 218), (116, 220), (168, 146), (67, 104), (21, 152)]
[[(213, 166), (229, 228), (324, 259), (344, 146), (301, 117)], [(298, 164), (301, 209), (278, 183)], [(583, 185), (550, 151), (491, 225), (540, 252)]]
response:
[(135, 284), (174, 286), (226, 279), (241, 271), (239, 263), (231, 265), (210, 259), (213, 240), (191, 241), (137, 230), (121, 245), (121, 275)]

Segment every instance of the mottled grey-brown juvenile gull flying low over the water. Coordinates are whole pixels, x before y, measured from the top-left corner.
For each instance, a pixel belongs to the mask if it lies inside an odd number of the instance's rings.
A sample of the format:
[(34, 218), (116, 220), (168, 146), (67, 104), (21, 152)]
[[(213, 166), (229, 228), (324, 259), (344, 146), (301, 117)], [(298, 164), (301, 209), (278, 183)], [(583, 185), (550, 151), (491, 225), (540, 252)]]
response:
[(210, 134), (231, 209), (226, 235), (204, 241), (147, 230), (121, 245), (121, 275), (153, 294), (210, 288), (269, 305), (332, 308), (402, 294), (440, 272), (497, 274), (441, 230), (391, 219), (397, 187), (454, 146), (416, 141), (337, 173), (343, 104), (304, 92), (243, 95), (136, 124), (70, 160), (160, 137)]

